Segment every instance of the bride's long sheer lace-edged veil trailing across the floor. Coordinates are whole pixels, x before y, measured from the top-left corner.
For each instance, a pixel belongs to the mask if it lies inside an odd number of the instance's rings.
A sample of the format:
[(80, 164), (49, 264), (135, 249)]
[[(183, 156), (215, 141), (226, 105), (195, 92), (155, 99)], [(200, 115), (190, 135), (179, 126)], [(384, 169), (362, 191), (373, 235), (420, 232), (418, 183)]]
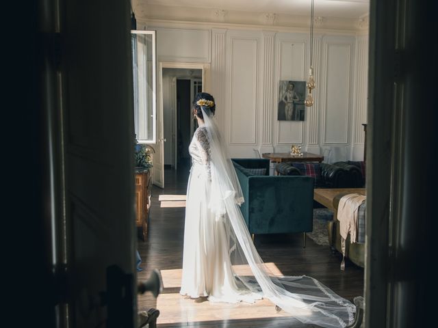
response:
[(244, 202), (235, 169), (208, 107), (201, 107), (211, 151), (209, 208), (224, 220), (235, 278), (249, 292), (270, 299), (302, 323), (346, 327), (353, 322), (355, 305), (306, 275), (274, 275), (253, 244), (239, 205)]

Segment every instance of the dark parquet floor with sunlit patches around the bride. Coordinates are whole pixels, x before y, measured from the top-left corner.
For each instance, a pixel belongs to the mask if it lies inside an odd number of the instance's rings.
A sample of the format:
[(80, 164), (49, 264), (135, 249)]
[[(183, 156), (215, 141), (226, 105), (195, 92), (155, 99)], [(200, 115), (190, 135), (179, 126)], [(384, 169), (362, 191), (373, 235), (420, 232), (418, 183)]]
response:
[[(157, 308), (158, 327), (309, 327), (276, 312), (268, 300), (255, 304), (210, 303), (179, 295), (183, 259), (185, 190), (188, 169), (166, 169), (165, 189), (153, 187), (151, 216), (146, 241), (138, 241), (142, 258), (139, 280), (146, 280), (153, 269), (162, 273), (164, 289), (155, 299), (150, 292), (138, 297), (138, 310)], [(255, 236), (255, 245), (264, 262), (283, 275), (309, 275), (337, 294), (352, 299), (363, 296), (363, 269), (347, 262), (339, 270), (340, 254), (329, 247), (316, 245), (307, 238), (302, 248), (302, 234)]]

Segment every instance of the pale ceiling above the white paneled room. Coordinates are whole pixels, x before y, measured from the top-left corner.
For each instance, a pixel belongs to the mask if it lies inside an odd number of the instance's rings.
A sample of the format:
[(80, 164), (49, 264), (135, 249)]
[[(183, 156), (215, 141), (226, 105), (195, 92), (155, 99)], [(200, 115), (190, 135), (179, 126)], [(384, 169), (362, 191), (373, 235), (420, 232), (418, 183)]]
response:
[[(308, 16), (310, 0), (134, 0), (141, 5), (159, 5), (186, 10), (220, 9)], [(315, 16), (361, 18), (367, 16), (370, 0), (315, 0)]]

